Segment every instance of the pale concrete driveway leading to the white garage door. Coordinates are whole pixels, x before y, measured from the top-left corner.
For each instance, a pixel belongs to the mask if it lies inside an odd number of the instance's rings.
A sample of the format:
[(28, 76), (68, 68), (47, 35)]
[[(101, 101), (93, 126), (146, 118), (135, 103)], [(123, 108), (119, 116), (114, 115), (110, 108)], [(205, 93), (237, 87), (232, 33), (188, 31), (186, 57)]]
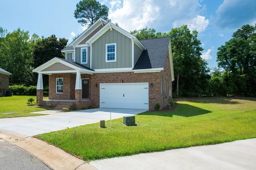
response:
[(120, 118), (123, 116), (135, 115), (146, 110), (142, 109), (115, 109), (115, 108), (96, 108), (84, 111), (53, 113), (52, 111), (43, 111), (51, 115), (1, 118), (0, 131), (11, 131), (30, 137), (33, 135), (73, 128), (75, 126), (91, 124), (100, 120), (110, 120), (111, 118)]

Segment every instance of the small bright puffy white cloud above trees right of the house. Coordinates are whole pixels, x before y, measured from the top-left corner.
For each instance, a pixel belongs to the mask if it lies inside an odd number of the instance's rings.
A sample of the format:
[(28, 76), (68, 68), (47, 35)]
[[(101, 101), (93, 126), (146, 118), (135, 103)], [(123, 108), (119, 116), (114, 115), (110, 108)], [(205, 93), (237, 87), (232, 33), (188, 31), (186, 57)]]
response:
[(197, 30), (199, 33), (205, 31), (209, 25), (209, 20), (205, 16), (197, 15), (193, 20), (188, 23), (190, 30)]

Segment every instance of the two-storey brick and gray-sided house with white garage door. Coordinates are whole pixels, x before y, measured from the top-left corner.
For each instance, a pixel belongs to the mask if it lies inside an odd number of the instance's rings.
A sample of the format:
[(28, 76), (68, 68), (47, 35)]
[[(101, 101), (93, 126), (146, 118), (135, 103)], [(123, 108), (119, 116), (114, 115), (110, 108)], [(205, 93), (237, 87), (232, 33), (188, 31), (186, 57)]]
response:
[[(37, 101), (62, 108), (161, 108), (172, 98), (170, 38), (138, 40), (117, 25), (99, 19), (37, 67)], [(49, 100), (43, 100), (42, 74), (49, 75)]]

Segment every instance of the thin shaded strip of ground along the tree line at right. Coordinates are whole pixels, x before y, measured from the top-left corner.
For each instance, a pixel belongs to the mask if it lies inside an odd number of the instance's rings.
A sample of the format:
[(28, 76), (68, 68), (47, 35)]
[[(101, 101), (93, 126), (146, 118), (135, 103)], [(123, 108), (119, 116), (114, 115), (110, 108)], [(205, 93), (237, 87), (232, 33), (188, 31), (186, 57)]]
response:
[(229, 97), (198, 97), (198, 98), (180, 98), (179, 101), (189, 101), (193, 103), (203, 103), (203, 104), (239, 104), (238, 101), (233, 101)]

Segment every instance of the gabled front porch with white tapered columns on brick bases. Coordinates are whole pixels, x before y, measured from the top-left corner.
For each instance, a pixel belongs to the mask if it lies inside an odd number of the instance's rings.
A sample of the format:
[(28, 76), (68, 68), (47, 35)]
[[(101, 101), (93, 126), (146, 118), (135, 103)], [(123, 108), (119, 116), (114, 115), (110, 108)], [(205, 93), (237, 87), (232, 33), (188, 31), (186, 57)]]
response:
[[(65, 66), (65, 67), (64, 67)], [(52, 106), (54, 109), (88, 108), (91, 100), (91, 70), (78, 65), (68, 65), (59, 58), (43, 68), (37, 68), (37, 103), (42, 106)], [(59, 67), (59, 69), (57, 68)], [(49, 75), (49, 99), (43, 99), (43, 74)]]

